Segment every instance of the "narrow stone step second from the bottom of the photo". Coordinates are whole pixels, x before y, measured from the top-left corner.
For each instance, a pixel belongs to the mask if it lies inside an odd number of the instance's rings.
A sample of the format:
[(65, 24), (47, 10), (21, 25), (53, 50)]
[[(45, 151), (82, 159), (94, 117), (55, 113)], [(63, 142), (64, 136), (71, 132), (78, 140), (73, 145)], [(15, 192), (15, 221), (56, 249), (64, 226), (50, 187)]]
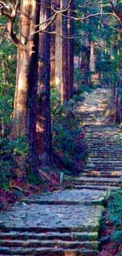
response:
[(29, 248), (62, 248), (62, 249), (90, 249), (90, 250), (98, 250), (99, 243), (98, 241), (65, 241), (65, 240), (37, 240), (37, 239), (29, 239), (29, 240), (2, 240), (1, 247), (22, 247)]

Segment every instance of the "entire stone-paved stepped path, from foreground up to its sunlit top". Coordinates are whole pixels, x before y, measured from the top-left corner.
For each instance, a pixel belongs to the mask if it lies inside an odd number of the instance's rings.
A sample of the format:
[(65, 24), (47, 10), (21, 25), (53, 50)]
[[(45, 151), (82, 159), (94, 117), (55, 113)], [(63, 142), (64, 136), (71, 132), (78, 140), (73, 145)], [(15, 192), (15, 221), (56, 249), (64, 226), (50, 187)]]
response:
[(87, 165), (70, 189), (31, 195), (0, 214), (0, 256), (94, 256), (108, 190), (120, 187), (122, 134), (102, 121), (109, 90), (87, 95), (79, 115)]

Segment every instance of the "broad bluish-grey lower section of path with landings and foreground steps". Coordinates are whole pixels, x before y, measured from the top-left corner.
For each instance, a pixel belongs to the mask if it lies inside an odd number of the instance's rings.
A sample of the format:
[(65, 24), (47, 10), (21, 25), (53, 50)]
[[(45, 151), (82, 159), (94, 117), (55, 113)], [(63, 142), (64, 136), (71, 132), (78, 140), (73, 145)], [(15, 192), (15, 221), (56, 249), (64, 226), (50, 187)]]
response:
[(31, 195), (0, 214), (0, 255), (94, 256), (105, 191)]

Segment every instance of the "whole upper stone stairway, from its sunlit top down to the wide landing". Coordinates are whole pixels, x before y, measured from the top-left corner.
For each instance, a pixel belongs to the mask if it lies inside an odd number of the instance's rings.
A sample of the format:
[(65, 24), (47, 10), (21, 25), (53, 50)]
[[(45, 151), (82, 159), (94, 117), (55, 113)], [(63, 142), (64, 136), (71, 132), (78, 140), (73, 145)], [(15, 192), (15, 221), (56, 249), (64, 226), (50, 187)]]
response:
[(82, 176), (73, 183), (76, 189), (111, 190), (122, 186), (122, 130), (117, 125), (105, 124), (103, 119), (109, 95), (110, 90), (98, 89), (80, 108), (87, 143), (87, 165)]

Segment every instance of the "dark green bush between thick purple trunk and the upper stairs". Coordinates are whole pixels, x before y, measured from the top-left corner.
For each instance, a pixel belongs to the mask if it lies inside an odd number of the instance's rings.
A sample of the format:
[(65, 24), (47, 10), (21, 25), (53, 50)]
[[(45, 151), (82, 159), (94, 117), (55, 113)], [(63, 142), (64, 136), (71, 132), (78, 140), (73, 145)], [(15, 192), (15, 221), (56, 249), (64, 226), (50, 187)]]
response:
[[(53, 94), (55, 95), (56, 91), (52, 91)], [(51, 96), (51, 98), (54, 97)], [(55, 104), (52, 102), (54, 155), (57, 156), (64, 169), (70, 169), (75, 173), (77, 171), (76, 160), (82, 159), (85, 150), (83, 138), (79, 138), (82, 129), (76, 113), (77, 101), (76, 98), (72, 98), (65, 103), (65, 106), (59, 104), (56, 111), (53, 106), (55, 109)]]

